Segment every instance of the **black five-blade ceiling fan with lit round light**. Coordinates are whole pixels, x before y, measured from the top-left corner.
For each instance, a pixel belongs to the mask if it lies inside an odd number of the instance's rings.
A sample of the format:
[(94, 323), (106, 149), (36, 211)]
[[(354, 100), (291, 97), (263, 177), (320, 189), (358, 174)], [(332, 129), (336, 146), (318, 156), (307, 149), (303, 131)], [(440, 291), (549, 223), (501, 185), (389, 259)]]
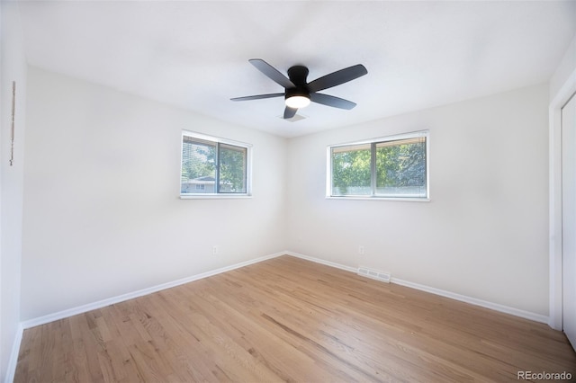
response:
[(293, 66), (288, 69), (288, 77), (280, 73), (275, 67), (272, 67), (261, 58), (252, 58), (248, 60), (254, 67), (272, 79), (276, 84), (284, 87), (284, 93), (278, 94), (257, 94), (245, 97), (235, 97), (232, 101), (258, 100), (263, 98), (284, 96), (286, 107), (284, 109), (284, 119), (291, 119), (300, 108), (304, 108), (310, 102), (318, 102), (323, 105), (332, 106), (340, 109), (352, 109), (356, 106), (355, 102), (344, 100), (329, 94), (319, 94), (317, 92), (333, 86), (341, 85), (352, 81), (368, 73), (362, 64), (340, 69), (326, 76), (321, 76), (310, 83), (306, 82), (308, 68), (303, 66)]

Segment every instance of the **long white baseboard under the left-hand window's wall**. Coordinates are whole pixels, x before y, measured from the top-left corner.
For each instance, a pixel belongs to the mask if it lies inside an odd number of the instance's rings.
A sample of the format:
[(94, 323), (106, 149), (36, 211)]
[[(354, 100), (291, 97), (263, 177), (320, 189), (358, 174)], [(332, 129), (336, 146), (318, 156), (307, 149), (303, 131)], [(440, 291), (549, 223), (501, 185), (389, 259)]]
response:
[(268, 259), (272, 259), (272, 258), (275, 258), (277, 256), (284, 255), (284, 254), (286, 254), (286, 253), (280, 252), (280, 253), (275, 253), (275, 254), (264, 255), (264, 256), (261, 256), (259, 258), (255, 258), (255, 259), (252, 259), (249, 261), (245, 261), (245, 262), (241, 262), (241, 263), (235, 263), (235, 264), (232, 264), (231, 266), (225, 266), (225, 267), (221, 267), (220, 269), (211, 270), (210, 272), (202, 272), (200, 274), (192, 275), (190, 277), (185, 277), (185, 278), (182, 278), (180, 280), (162, 283), (162, 284), (159, 284), (157, 286), (152, 286), (152, 287), (149, 287), (146, 289), (139, 289), (137, 291), (132, 291), (132, 292), (129, 292), (126, 294), (116, 296), (116, 297), (106, 298), (106, 299), (98, 300), (98, 301), (93, 302), (93, 303), (88, 303), (86, 305), (68, 308), (66, 310), (58, 311), (57, 313), (49, 314), (47, 316), (39, 316), (39, 317), (30, 319), (27, 321), (23, 321), (21, 325), (23, 326), (23, 329), (31, 328), (31, 327), (34, 327), (37, 325), (45, 325), (47, 323), (54, 322), (58, 319), (66, 318), (68, 316), (76, 316), (78, 314), (83, 314), (83, 313), (90, 311), (90, 310), (95, 310), (98, 308), (113, 305), (115, 303), (120, 303), (120, 302), (123, 302), (124, 300), (139, 298), (139, 297), (142, 297), (142, 296), (145, 296), (145, 295), (148, 295), (148, 294), (151, 294), (153, 292), (157, 292), (157, 291), (160, 291), (163, 289), (170, 289), (170, 288), (173, 288), (175, 286), (183, 285), (184, 283), (202, 280), (202, 278), (211, 277), (212, 275), (220, 274), (222, 272), (229, 272), (231, 270), (239, 269), (240, 267), (244, 267), (244, 266), (247, 266), (249, 264), (259, 263), (259, 262), (266, 261)]

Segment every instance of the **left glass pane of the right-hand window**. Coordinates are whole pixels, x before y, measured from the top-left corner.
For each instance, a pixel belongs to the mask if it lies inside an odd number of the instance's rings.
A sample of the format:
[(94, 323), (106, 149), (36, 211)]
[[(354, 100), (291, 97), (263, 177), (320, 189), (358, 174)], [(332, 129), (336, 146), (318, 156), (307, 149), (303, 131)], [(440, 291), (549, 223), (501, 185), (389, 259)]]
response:
[(332, 195), (370, 195), (370, 144), (332, 147)]

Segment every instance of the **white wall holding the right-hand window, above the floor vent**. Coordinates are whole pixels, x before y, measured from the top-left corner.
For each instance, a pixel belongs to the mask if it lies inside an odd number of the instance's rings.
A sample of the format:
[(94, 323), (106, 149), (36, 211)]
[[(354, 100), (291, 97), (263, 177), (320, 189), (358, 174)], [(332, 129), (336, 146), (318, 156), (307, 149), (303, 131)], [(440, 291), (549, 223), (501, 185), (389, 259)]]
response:
[[(547, 103), (538, 85), (292, 139), (288, 247), (547, 316)], [(420, 129), (429, 202), (325, 198), (327, 146)]]

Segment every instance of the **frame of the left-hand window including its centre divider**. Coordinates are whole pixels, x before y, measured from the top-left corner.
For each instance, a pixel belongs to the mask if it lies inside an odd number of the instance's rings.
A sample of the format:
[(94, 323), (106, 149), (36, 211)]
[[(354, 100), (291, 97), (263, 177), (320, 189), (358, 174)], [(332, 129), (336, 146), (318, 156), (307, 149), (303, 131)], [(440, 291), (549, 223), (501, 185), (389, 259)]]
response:
[[(184, 162), (183, 151), (184, 151), (184, 137), (192, 138), (198, 141), (205, 141), (211, 144), (214, 144), (216, 147), (216, 158), (217, 164), (215, 165), (215, 172), (216, 176), (215, 183), (218, 182), (220, 179), (220, 167), (218, 164), (218, 155), (220, 153), (220, 144), (222, 145), (229, 145), (233, 147), (241, 147), (246, 149), (246, 192), (218, 192), (217, 188), (214, 188), (216, 191), (207, 193), (207, 192), (197, 192), (197, 193), (183, 193), (182, 192), (182, 165)], [(216, 186), (216, 185), (215, 185)], [(182, 134), (180, 136), (180, 199), (181, 200), (198, 200), (198, 199), (243, 199), (243, 198), (251, 198), (252, 197), (252, 144), (248, 144), (246, 142), (235, 141), (228, 138), (220, 138), (209, 136), (202, 133), (193, 132), (191, 130), (182, 130)]]

